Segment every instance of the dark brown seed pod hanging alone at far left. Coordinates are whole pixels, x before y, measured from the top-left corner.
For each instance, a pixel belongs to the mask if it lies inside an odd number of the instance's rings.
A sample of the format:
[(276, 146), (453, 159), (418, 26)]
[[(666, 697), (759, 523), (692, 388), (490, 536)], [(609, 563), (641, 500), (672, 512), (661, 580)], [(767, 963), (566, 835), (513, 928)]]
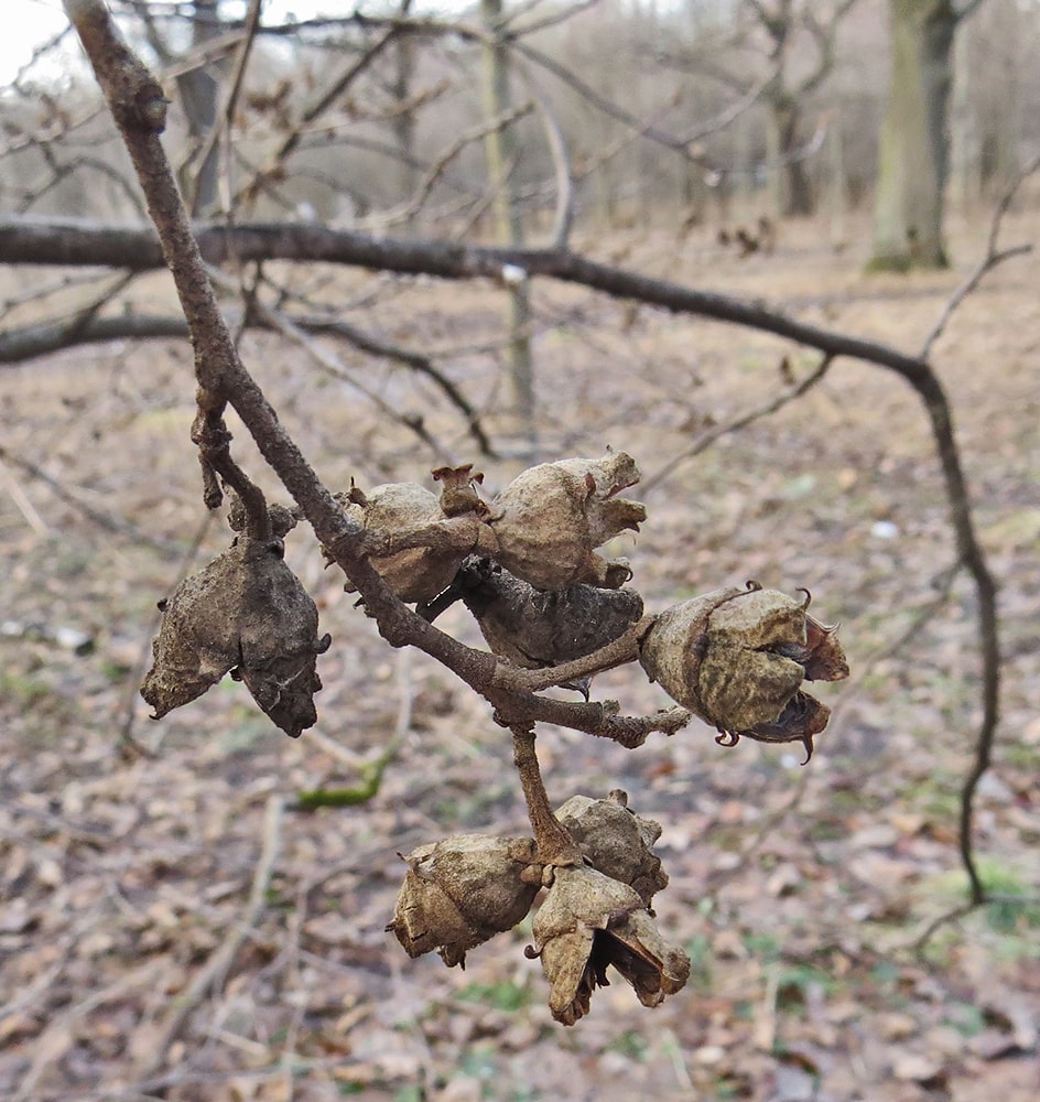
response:
[(153, 719), (230, 672), (286, 734), (314, 725), (315, 660), (331, 639), (318, 639), (317, 608), (283, 553), (280, 539), (239, 536), (162, 603), (154, 663), (141, 685)]

